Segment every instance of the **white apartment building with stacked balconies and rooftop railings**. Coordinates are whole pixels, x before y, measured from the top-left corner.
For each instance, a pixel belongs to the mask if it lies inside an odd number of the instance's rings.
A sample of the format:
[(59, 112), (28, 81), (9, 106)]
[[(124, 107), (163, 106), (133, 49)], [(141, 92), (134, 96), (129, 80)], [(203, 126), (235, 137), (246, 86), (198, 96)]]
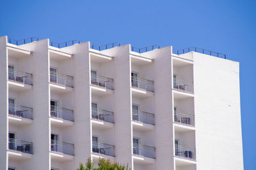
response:
[(243, 169), (239, 63), (224, 54), (2, 36), (0, 56), (0, 169)]

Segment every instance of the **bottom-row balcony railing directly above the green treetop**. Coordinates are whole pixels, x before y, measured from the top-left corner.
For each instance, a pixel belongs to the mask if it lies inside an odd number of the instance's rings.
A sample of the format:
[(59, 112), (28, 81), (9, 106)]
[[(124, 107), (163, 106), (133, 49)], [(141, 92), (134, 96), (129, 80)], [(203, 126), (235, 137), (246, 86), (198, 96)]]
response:
[(92, 142), (92, 151), (94, 153), (100, 153), (103, 155), (109, 155), (115, 157), (115, 146), (105, 143)]

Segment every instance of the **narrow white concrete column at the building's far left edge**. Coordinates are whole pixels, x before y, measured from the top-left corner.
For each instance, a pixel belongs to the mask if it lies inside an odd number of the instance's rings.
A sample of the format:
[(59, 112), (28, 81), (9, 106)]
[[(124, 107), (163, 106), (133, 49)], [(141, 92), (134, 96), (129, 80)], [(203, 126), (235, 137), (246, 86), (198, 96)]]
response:
[(8, 50), (7, 36), (0, 37), (0, 169), (8, 169)]

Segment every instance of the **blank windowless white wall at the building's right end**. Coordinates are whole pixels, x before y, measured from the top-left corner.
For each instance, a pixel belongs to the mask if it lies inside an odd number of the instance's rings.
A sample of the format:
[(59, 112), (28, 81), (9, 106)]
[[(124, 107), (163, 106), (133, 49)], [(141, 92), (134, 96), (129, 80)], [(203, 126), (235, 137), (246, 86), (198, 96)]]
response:
[(197, 169), (243, 169), (239, 63), (193, 58)]

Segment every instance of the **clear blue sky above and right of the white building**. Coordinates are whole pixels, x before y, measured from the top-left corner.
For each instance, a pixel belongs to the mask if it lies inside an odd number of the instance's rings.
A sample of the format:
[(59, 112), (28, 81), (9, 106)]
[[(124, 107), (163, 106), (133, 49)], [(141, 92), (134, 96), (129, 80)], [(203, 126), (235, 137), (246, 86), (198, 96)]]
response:
[(0, 1), (0, 36), (201, 47), (240, 62), (244, 169), (256, 163), (256, 1)]

